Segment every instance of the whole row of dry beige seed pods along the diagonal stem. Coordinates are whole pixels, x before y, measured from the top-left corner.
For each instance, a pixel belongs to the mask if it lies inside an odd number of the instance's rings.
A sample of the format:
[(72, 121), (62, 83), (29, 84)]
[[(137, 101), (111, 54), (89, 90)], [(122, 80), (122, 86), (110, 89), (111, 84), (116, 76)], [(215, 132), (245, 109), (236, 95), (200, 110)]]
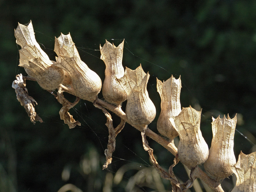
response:
[[(71, 90), (70, 92), (75, 96), (91, 102), (97, 99), (102, 85), (100, 77), (80, 59), (70, 34), (61, 34), (55, 38), (54, 51), (58, 56), (56, 62), (51, 61), (36, 42), (31, 22), (27, 26), (19, 24), (15, 30), (15, 37), (17, 44), (21, 46), (19, 66), (25, 68), (28, 75), (35, 78), (42, 88), (46, 90), (60, 88), (61, 95), (63, 91)], [(125, 110), (127, 122), (136, 125), (136, 128), (137, 126), (145, 128), (156, 116), (156, 108), (147, 91), (149, 74), (143, 71), (141, 65), (135, 70), (126, 68), (124, 71), (123, 47), (124, 41), (117, 47), (108, 41), (103, 47), (100, 46), (101, 59), (106, 65), (103, 96), (109, 103), (116, 105), (115, 110), (116, 107), (119, 110), (121, 103), (127, 99)], [(233, 151), (236, 116), (233, 119), (229, 116), (212, 118), (213, 138), (209, 151), (200, 131), (201, 111), (196, 111), (191, 106), (181, 110), (180, 90), (180, 78), (175, 79), (172, 76), (165, 82), (157, 79), (157, 91), (161, 97), (161, 113), (157, 121), (157, 129), (172, 141), (179, 135), (180, 161), (189, 169), (204, 163), (205, 170), (217, 182), (234, 172), (237, 181), (232, 192), (256, 192), (256, 152), (249, 155), (241, 152), (236, 163)], [(73, 106), (72, 103), (66, 103), (63, 104), (66, 105), (65, 108)], [(69, 121), (72, 119), (67, 111), (63, 114), (64, 119), (69, 118)], [(123, 115), (122, 112), (120, 116)], [(113, 128), (113, 135), (115, 130)], [(144, 134), (145, 132), (142, 134), (143, 139), (146, 138)], [(143, 140), (144, 148), (148, 148), (144, 143)], [(152, 157), (153, 150), (150, 154)]]

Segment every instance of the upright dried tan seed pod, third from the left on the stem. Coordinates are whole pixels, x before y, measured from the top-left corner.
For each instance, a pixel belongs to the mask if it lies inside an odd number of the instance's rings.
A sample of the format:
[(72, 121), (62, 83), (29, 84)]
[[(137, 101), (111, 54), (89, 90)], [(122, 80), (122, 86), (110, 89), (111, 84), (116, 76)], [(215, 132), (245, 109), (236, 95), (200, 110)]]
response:
[(122, 66), (123, 48), (124, 41), (116, 47), (106, 40), (103, 47), (100, 46), (100, 59), (106, 65), (102, 94), (105, 100), (117, 106), (127, 99), (124, 88), (116, 81), (116, 78), (124, 76), (124, 68)]

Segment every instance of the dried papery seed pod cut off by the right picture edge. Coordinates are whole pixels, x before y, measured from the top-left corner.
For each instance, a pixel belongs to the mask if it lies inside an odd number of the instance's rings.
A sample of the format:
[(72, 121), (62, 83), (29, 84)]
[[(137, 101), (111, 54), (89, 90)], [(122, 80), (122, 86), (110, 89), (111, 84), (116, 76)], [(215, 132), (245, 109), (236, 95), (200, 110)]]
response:
[(232, 171), (236, 175), (236, 186), (231, 192), (256, 191), (256, 152), (245, 155), (240, 152)]

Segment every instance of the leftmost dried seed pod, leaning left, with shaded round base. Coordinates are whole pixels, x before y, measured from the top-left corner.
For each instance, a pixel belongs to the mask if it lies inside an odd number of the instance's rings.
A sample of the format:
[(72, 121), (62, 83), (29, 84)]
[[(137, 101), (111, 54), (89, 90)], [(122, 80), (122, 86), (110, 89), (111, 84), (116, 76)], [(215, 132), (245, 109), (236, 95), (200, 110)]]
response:
[(32, 22), (25, 26), (18, 24), (14, 35), (21, 46), (20, 64), (29, 76), (34, 77), (38, 84), (46, 90), (54, 90), (64, 79), (64, 70), (53, 65), (47, 54), (36, 42)]

